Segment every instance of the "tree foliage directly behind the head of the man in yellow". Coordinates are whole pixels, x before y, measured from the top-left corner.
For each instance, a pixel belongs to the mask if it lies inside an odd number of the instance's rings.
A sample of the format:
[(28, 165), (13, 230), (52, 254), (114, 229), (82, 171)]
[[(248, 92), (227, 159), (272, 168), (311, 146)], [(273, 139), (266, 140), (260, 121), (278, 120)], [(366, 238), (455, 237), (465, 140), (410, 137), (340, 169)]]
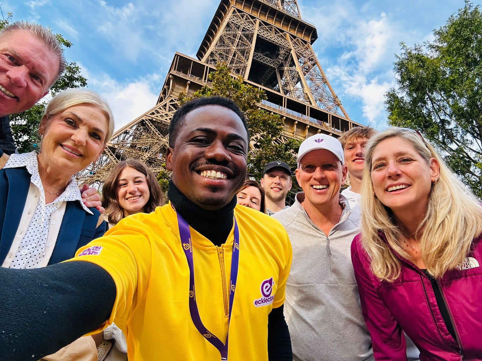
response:
[[(263, 176), (263, 170), (268, 162), (282, 160), (290, 165), (296, 163), (296, 153), (299, 141), (292, 138), (281, 139), (284, 120), (258, 107), (258, 103), (266, 100), (264, 90), (243, 83), (243, 78), (232, 77), (226, 64), (220, 64), (209, 74), (211, 86), (203, 86), (192, 97), (182, 93), (181, 104), (194, 98), (207, 96), (223, 96), (232, 99), (246, 114), (248, 128), (251, 133), (250, 150), (248, 153), (248, 174), (257, 181)], [(295, 180), (294, 180), (295, 182)]]

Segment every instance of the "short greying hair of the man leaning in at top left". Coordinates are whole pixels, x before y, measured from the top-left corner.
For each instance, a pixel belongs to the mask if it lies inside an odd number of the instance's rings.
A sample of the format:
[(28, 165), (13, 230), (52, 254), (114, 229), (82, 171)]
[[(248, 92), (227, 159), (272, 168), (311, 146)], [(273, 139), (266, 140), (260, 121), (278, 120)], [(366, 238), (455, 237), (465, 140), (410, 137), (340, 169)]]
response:
[(10, 25), (5, 26), (0, 31), (0, 37), (4, 37), (8, 34), (12, 34), (14, 31), (27, 31), (35, 38), (39, 39), (50, 51), (52, 51), (58, 58), (58, 71), (56, 77), (52, 81), (52, 84), (48, 84), (48, 88), (57, 81), (62, 75), (67, 66), (67, 62), (64, 57), (64, 50), (60, 45), (57, 37), (52, 34), (50, 28), (41, 26), (39, 24), (29, 23), (28, 21), (16, 21)]

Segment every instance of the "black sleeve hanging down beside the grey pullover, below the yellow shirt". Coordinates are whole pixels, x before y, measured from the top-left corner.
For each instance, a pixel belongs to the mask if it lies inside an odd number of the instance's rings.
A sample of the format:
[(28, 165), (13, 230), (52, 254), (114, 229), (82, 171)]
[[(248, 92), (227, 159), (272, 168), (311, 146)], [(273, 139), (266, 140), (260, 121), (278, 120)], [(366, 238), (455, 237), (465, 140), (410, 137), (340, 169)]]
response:
[(283, 315), (283, 305), (268, 315), (268, 360), (293, 361), (290, 332)]

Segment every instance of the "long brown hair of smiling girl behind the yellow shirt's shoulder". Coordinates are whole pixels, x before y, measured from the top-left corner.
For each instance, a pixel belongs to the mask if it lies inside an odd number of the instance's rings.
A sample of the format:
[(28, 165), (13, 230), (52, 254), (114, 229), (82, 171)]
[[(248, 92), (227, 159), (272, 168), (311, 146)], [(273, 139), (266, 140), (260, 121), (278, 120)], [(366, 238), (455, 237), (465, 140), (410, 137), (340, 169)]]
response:
[(161, 186), (156, 180), (156, 176), (152, 170), (150, 170), (144, 163), (135, 159), (121, 161), (112, 168), (107, 180), (104, 182), (104, 187), (102, 188), (102, 206), (106, 208), (110, 223), (117, 223), (120, 219), (125, 217), (124, 210), (119, 205), (119, 200), (117, 199), (117, 181), (122, 170), (127, 167), (134, 168), (146, 176), (150, 196), (144, 206), (144, 212), (153, 212), (157, 206), (162, 206), (164, 204), (164, 201), (162, 200)]

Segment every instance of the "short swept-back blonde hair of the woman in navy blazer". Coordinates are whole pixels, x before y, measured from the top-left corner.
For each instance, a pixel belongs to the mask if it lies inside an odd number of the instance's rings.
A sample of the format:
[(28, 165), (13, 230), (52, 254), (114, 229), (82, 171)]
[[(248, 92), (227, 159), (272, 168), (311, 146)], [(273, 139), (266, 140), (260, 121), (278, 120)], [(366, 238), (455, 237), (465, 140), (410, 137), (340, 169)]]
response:
[(97, 94), (94, 90), (86, 88), (72, 88), (61, 91), (55, 95), (54, 98), (52, 98), (50, 103), (48, 103), (47, 107), (45, 108), (45, 113), (42, 117), (42, 122), (46, 121), (46, 123), (48, 123), (50, 118), (53, 116), (62, 113), (71, 106), (79, 104), (96, 105), (107, 117), (108, 131), (106, 134), (106, 139), (104, 140), (104, 144), (106, 144), (112, 137), (112, 134), (114, 134), (114, 115), (112, 114), (112, 110), (110, 109), (106, 99)]

